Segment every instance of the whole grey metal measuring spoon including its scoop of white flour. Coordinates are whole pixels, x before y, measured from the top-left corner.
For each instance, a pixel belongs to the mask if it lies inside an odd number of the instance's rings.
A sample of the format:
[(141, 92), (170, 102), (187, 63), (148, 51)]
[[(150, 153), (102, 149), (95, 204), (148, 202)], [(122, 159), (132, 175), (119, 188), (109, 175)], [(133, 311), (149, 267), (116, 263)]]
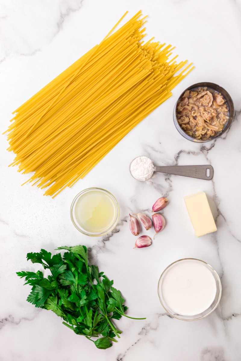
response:
[(151, 178), (154, 172), (206, 179), (207, 181), (212, 179), (214, 176), (214, 169), (211, 165), (156, 166), (150, 158), (145, 156), (135, 158), (130, 164), (130, 173), (132, 177), (139, 181), (147, 181), (147, 179)]

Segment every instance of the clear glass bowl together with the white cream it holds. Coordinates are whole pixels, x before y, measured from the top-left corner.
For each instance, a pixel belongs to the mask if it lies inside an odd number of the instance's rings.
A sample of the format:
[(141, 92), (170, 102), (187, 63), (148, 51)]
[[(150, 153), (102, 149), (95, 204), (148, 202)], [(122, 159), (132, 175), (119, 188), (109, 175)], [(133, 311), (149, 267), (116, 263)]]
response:
[(163, 271), (158, 295), (170, 316), (195, 321), (208, 316), (218, 306), (221, 282), (219, 275), (206, 262), (183, 258)]

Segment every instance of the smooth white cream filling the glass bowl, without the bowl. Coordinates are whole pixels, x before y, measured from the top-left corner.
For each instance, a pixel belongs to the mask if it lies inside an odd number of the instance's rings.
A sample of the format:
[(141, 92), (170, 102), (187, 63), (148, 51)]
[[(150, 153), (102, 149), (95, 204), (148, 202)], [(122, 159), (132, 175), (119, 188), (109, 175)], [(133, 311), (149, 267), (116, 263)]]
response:
[(161, 284), (163, 299), (174, 313), (194, 316), (214, 301), (216, 282), (211, 271), (198, 260), (181, 260), (170, 266)]

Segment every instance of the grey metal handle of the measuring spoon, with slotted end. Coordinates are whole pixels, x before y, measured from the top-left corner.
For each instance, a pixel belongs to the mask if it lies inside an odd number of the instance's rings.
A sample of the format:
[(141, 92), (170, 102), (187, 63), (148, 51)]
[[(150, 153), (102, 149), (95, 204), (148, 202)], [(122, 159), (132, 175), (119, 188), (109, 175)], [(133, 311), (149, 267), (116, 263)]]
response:
[(183, 175), (184, 177), (206, 179), (207, 181), (212, 179), (214, 176), (214, 169), (211, 165), (155, 166), (155, 171), (160, 173)]

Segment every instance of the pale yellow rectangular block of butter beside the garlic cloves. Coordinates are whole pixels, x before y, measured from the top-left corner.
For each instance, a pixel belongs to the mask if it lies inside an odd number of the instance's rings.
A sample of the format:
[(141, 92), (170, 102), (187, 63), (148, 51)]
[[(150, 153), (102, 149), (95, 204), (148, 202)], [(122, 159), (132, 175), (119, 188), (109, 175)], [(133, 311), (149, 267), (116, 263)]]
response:
[(184, 201), (197, 237), (217, 230), (205, 192), (186, 196)]

